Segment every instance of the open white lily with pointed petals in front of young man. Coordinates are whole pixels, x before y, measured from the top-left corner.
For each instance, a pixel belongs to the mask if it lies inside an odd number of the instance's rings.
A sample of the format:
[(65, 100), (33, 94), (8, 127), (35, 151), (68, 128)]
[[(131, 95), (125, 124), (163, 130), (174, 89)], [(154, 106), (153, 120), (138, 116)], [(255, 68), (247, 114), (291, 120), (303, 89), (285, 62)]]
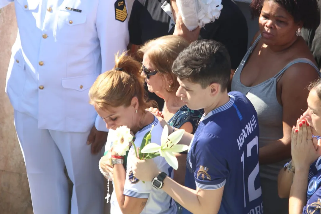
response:
[(166, 162), (173, 167), (175, 170), (178, 168), (178, 161), (175, 153), (179, 153), (188, 150), (187, 145), (177, 144), (183, 137), (185, 130), (180, 129), (176, 132), (171, 133), (168, 136), (168, 127), (165, 125), (163, 132), (160, 137), (161, 145), (156, 143), (149, 143), (141, 150), (142, 153), (155, 153), (159, 152), (161, 157), (164, 157)]

